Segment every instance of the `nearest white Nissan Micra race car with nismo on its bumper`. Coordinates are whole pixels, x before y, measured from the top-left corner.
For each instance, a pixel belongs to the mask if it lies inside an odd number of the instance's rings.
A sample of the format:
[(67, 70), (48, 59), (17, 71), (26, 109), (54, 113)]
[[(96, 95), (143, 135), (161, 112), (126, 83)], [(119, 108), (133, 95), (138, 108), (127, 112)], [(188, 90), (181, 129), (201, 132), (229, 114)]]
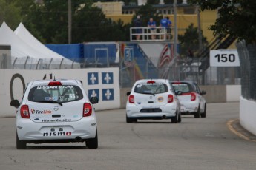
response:
[(98, 147), (97, 122), (92, 103), (80, 81), (44, 80), (27, 85), (21, 103), (10, 102), (16, 112), (16, 148), (27, 143), (85, 142)]

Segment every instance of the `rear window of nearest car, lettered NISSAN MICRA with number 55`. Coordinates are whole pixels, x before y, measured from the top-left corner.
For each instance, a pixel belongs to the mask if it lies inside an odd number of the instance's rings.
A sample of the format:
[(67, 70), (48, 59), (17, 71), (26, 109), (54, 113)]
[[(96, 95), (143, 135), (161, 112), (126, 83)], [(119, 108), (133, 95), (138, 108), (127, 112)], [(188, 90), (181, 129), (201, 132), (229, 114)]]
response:
[(61, 103), (78, 101), (83, 98), (79, 86), (35, 86), (30, 89), (29, 101), (59, 101)]

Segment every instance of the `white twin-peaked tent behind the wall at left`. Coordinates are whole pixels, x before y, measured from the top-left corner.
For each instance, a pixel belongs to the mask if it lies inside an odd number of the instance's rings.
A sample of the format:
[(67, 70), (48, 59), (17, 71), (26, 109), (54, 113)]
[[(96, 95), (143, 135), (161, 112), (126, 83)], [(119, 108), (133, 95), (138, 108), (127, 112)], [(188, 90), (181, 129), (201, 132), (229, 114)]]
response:
[[(0, 44), (10, 45), (12, 57), (18, 58), (17, 61), (12, 58), (12, 64), (30, 64), (30, 69), (38, 68), (38, 65), (41, 69), (59, 69), (60, 64), (65, 68), (73, 66), (73, 61), (45, 47), (22, 26), (23, 24), (20, 24), (16, 29), (19, 35), (14, 33), (5, 22), (0, 27)], [(75, 67), (79, 67), (79, 64), (75, 64)]]

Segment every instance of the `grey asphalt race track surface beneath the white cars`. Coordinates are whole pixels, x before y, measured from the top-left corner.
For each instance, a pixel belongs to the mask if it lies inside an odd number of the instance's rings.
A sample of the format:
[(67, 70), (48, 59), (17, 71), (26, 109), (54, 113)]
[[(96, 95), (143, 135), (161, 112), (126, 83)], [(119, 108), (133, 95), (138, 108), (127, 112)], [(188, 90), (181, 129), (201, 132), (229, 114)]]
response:
[(256, 143), (227, 122), (239, 103), (211, 103), (207, 118), (125, 123), (125, 109), (96, 112), (99, 149), (85, 143), (29, 144), (16, 149), (15, 118), (0, 119), (0, 169), (256, 169)]

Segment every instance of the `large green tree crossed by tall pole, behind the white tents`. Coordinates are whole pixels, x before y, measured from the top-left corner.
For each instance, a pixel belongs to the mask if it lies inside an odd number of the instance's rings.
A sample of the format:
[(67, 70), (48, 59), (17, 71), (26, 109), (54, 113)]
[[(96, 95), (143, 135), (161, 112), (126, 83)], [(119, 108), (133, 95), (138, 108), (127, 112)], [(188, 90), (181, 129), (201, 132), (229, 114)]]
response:
[[(19, 1), (19, 0), (16, 0)], [(127, 26), (111, 21), (91, 0), (72, 1), (72, 43), (85, 41), (125, 41)], [(45, 44), (68, 43), (68, 1), (45, 0), (33, 4), (24, 25)]]

